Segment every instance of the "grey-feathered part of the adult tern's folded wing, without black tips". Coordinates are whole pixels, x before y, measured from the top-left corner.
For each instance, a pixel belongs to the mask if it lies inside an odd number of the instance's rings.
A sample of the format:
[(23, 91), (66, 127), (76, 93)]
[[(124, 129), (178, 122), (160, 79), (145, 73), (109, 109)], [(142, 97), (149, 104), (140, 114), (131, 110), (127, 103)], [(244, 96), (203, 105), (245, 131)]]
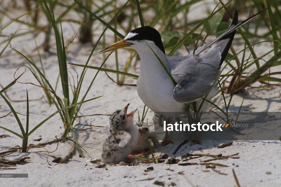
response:
[[(174, 88), (173, 97), (177, 102), (189, 103), (204, 97), (214, 87), (214, 80), (219, 74), (220, 55), (213, 50), (213, 59), (191, 56), (172, 69), (172, 75), (178, 84)], [(208, 55), (208, 54), (206, 54)]]

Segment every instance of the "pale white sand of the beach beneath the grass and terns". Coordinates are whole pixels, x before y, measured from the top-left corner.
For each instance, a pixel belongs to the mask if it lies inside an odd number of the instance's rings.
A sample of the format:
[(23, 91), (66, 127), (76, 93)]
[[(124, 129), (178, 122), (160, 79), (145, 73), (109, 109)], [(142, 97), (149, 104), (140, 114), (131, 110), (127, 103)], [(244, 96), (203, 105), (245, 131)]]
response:
[[(13, 28), (11, 33), (19, 28)], [(63, 25), (65, 32), (70, 32), (67, 25)], [(9, 34), (6, 31), (7, 35)], [(108, 33), (111, 34), (109, 31)], [(71, 34), (70, 34), (71, 35)], [(37, 42), (41, 44), (43, 41), (43, 34), (37, 38)], [(64, 36), (67, 36), (64, 34)], [(30, 39), (30, 41), (29, 41)], [(67, 39), (66, 39), (67, 40)], [(96, 35), (95, 39), (96, 40)], [(78, 43), (75, 39), (75, 43)], [(88, 55), (90, 54), (91, 47), (80, 46), (76, 44), (70, 45), (68, 50), (68, 62), (85, 64)], [(234, 42), (235, 45), (235, 42)], [(268, 45), (268, 44), (264, 44)], [(52, 46), (55, 46), (54, 41)], [(24, 38), (17, 38), (12, 41), (12, 47), (17, 50), (26, 50), (28, 54), (32, 53), (34, 47), (34, 41), (32, 35), (25, 36)], [(234, 46), (235, 50), (241, 50), (243, 46)], [(264, 46), (259, 46), (261, 49)], [(257, 48), (255, 48), (257, 50)], [(55, 48), (51, 48), (52, 52), (56, 52)], [(90, 63), (94, 66), (100, 66), (103, 59), (102, 55), (99, 55), (98, 50), (94, 52), (94, 56), (91, 58)], [(42, 51), (41, 51), (42, 52)], [(264, 51), (262, 51), (264, 53)], [(119, 50), (120, 55), (120, 69), (124, 67), (126, 59), (129, 57), (129, 53), (125, 50)], [(38, 56), (33, 53), (33, 60), (39, 65)], [(42, 52), (42, 54), (44, 54)], [(270, 56), (269, 56), (270, 57)], [(269, 58), (268, 57), (268, 58)], [(51, 84), (54, 86), (56, 78), (59, 74), (57, 57), (51, 54), (44, 54), (42, 56), (44, 67), (46, 68), (47, 77), (51, 80)], [(114, 69), (114, 55), (107, 61), (107, 68)], [(13, 80), (13, 73), (21, 65), (26, 65), (26, 62), (22, 60), (11, 48), (8, 48), (5, 53), (0, 57), (0, 83), (6, 86)], [(68, 67), (74, 68), (80, 75), (82, 68), (69, 65)], [(278, 71), (274, 67), (271, 72)], [(22, 67), (17, 76), (24, 71)], [(76, 74), (74, 70), (69, 70), (74, 77)], [(131, 73), (139, 74), (139, 64), (136, 70), (133, 68), (130, 70)], [(88, 85), (90, 84), (96, 70), (88, 70), (83, 82), (83, 88), (81, 96), (85, 93)], [(114, 79), (115, 74), (110, 74)], [(73, 84), (73, 79), (71, 85)], [(19, 82), (32, 82), (38, 84), (36, 79), (26, 68), (26, 73), (18, 80)], [(132, 78), (126, 78), (125, 83), (135, 84), (136, 80)], [(75, 85), (77, 81), (75, 78)], [(62, 98), (63, 94), (60, 90), (60, 83), (58, 86), (58, 95)], [(38, 99), (44, 95), (43, 90), (39, 87), (30, 84), (16, 83), (7, 90), (7, 95), (13, 100), (25, 100), (26, 89), (29, 93), (29, 99)], [(280, 86), (268, 86), (266, 88), (247, 89), (244, 93), (240, 93), (234, 96), (230, 111), (237, 111), (242, 102), (243, 97), (245, 100), (243, 103), (242, 110), (249, 107), (254, 107), (251, 111), (280, 111)], [(143, 110), (144, 104), (138, 97), (137, 88), (130, 86), (118, 86), (107, 78), (104, 72), (100, 72), (94, 81), (94, 84), (88, 93), (86, 99), (104, 95), (102, 98), (90, 101), (83, 104), (80, 115), (90, 114), (111, 114), (116, 109), (124, 108), (126, 104), (131, 103), (129, 111), (138, 108), (140, 113)], [(81, 97), (80, 97), (81, 98)], [(223, 107), (223, 101), (221, 94), (217, 94), (216, 104)], [(227, 97), (228, 99), (229, 97)], [(26, 114), (26, 102), (11, 102), (12, 106), (18, 113)], [(31, 130), (38, 123), (44, 120), (51, 113), (56, 111), (54, 105), (49, 106), (46, 97), (38, 101), (30, 101), (30, 127)], [(238, 109), (237, 109), (238, 108)], [(10, 112), (9, 107), (5, 101), (0, 98), (0, 116), (4, 116)], [(153, 116), (154, 113), (149, 110), (147, 114), (150, 128), (153, 129)], [(26, 117), (19, 115), (23, 125), (25, 126)], [(50, 153), (48, 165), (46, 161), (46, 152), (42, 148), (31, 149), (28, 153), (12, 153), (7, 154), (4, 158), (12, 160), (22, 158), (24, 156), (30, 156), (29, 161), (31, 163), (25, 165), (17, 165), (16, 170), (1, 170), (0, 173), (28, 173), (28, 178), (1, 178), (1, 186), (156, 186), (153, 185), (154, 181), (162, 181), (165, 186), (175, 183), (177, 186), (235, 186), (235, 180), (232, 175), (232, 169), (234, 168), (237, 178), (241, 186), (280, 186), (281, 185), (281, 142), (280, 141), (234, 141), (234, 143), (223, 149), (217, 149), (216, 146), (226, 143), (228, 141), (201, 141), (202, 145), (193, 145), (194, 143), (189, 141), (187, 144), (182, 146), (182, 149), (176, 153), (177, 158), (180, 159), (181, 155), (186, 153), (210, 153), (210, 154), (222, 154), (223, 156), (231, 155), (239, 152), (239, 159), (225, 159), (212, 161), (228, 165), (230, 167), (216, 167), (216, 170), (220, 170), (227, 175), (220, 175), (214, 172), (212, 169), (206, 169), (204, 165), (189, 165), (179, 166), (177, 164), (167, 165), (162, 164), (135, 164), (135, 166), (119, 166), (117, 165), (106, 165), (104, 168), (95, 168), (97, 164), (90, 162), (91, 158), (98, 159), (101, 157), (102, 144), (108, 136), (108, 116), (92, 116), (82, 117), (80, 120), (76, 120), (75, 124), (90, 124), (104, 127), (93, 127), (85, 131), (78, 131), (80, 129), (88, 128), (87, 126), (77, 126), (75, 133), (78, 138), (80, 145), (87, 151), (85, 153), (86, 158), (80, 158), (78, 151), (75, 150), (74, 155), (67, 161), (67, 164), (55, 165), (51, 161), (56, 157), (65, 157), (70, 150), (72, 142), (66, 141), (65, 143), (59, 143), (58, 148), (55, 152)], [(135, 115), (135, 121), (137, 121), (137, 114)], [(276, 121), (277, 122), (277, 121)], [(9, 128), (17, 133), (20, 132), (20, 128), (12, 114), (7, 117), (0, 118), (0, 126)], [(29, 137), (28, 143), (38, 144), (47, 142), (55, 139), (55, 136), (61, 137), (63, 134), (63, 123), (59, 115), (52, 117), (49, 121), (38, 128)], [(0, 139), (1, 151), (7, 151), (7, 149), (13, 146), (21, 146), (22, 141), (19, 137), (0, 129), (0, 135), (7, 134), (11, 137)], [(71, 136), (71, 133), (69, 133)], [(281, 134), (280, 134), (281, 136)], [(40, 142), (34, 141), (42, 137)], [(163, 151), (163, 154), (172, 156), (172, 152), (179, 145), (180, 142), (174, 142), (169, 144)], [(56, 144), (45, 146), (49, 151), (56, 149)], [(203, 151), (199, 151), (199, 148)], [(161, 150), (162, 151), (162, 150)], [(156, 156), (160, 156), (161, 151), (155, 152)], [(201, 157), (199, 159), (193, 159), (188, 162), (197, 162), (208, 159), (209, 157)], [(182, 161), (181, 161), (182, 162)], [(180, 163), (181, 163), (180, 162)], [(148, 166), (153, 166), (154, 170), (145, 172), (144, 170)], [(170, 170), (167, 170), (170, 169)], [(171, 171), (172, 170), (172, 171)], [(203, 172), (202, 170), (207, 172)], [(178, 173), (180, 172), (180, 174)], [(268, 173), (268, 174), (267, 174)], [(151, 179), (151, 180), (145, 180)]]

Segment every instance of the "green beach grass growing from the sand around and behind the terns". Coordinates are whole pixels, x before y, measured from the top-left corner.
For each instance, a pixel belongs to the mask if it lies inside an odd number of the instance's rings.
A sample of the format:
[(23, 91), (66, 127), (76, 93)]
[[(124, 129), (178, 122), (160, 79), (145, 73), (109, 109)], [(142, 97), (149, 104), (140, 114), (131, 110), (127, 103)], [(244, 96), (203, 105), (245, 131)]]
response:
[[(36, 41), (37, 32), (42, 32), (46, 35), (44, 42), (39, 46), (37, 46), (36, 43), (36, 46), (34, 47), (37, 51), (36, 57), (38, 58), (33, 58), (29, 54), (32, 50), (22, 50), (15, 46), (13, 47), (13, 50), (26, 61), (26, 65), (29, 67), (29, 70), (31, 70), (34, 78), (39, 84), (37, 86), (42, 88), (48, 103), (50, 105), (54, 104), (57, 110), (53, 111), (51, 116), (44, 119), (41, 123), (29, 131), (30, 101), (28, 99), (27, 92), (27, 122), (26, 129), (24, 130), (22, 122), (17, 117), (17, 108), (13, 108), (12, 101), (9, 101), (3, 94), (8, 94), (7, 90), (14, 86), (16, 81), (19, 80), (24, 73), (15, 78), (15, 80), (10, 84), (5, 85), (5, 87), (2, 86), (2, 90), (0, 91), (5, 103), (7, 103), (13, 115), (17, 119), (22, 135), (6, 127), (1, 126), (1, 128), (23, 139), (23, 152), (24, 150), (26, 151), (28, 136), (31, 135), (37, 128), (41, 127), (42, 124), (52, 116), (59, 113), (63, 126), (65, 127), (62, 141), (64, 142), (66, 140), (68, 132), (70, 131), (76, 141), (76, 145), (78, 145), (81, 156), (83, 156), (83, 152), (79, 148), (79, 142), (77, 141), (73, 130), (73, 124), (75, 122), (75, 116), (78, 115), (83, 103), (101, 97), (99, 96), (85, 100), (90, 90), (93, 89), (92, 85), (98, 73), (100, 71), (106, 71), (116, 74), (116, 82), (120, 83), (120, 85), (126, 81), (127, 77), (138, 79), (138, 75), (132, 73), (134, 70), (131, 67), (133, 60), (136, 60), (138, 56), (134, 51), (131, 51), (130, 59), (127, 61), (126, 65), (123, 64), (124, 60), (121, 60), (120, 58), (120, 52), (115, 51), (115, 69), (103, 67), (108, 62), (109, 57), (113, 52), (108, 55), (103, 55), (101, 65), (91, 65), (90, 60), (94, 52), (96, 53), (105, 46), (109, 46), (111, 44), (108, 41), (110, 39), (109, 37), (114, 37), (111, 39), (118, 41), (119, 39), (123, 39), (125, 37), (124, 34), (121, 33), (125, 33), (126, 35), (130, 30), (139, 26), (148, 25), (157, 27), (160, 34), (163, 36), (164, 47), (169, 56), (175, 55), (178, 50), (185, 50), (185, 52), (194, 53), (198, 47), (206, 43), (208, 37), (214, 35), (219, 36), (225, 31), (225, 29), (227, 29), (229, 25), (227, 22), (229, 22), (230, 18), (232, 18), (232, 14), (235, 9), (239, 9), (239, 16), (245, 15), (246, 17), (250, 17), (250, 15), (254, 14), (252, 12), (259, 12), (268, 8), (266, 11), (254, 18), (253, 21), (247, 23), (245, 26), (242, 26), (236, 31), (234, 42), (241, 43), (244, 47), (239, 49), (239, 51), (235, 50), (233, 47), (230, 48), (230, 52), (225, 59), (226, 63), (223, 64), (223, 67), (221, 68), (222, 71), (217, 78), (219, 92), (223, 97), (225, 106), (219, 107), (217, 103), (207, 100), (206, 97), (203, 99), (204, 101), (202, 103), (211, 103), (217, 110), (223, 112), (227, 117), (232, 98), (236, 93), (239, 93), (244, 89), (251, 88), (251, 86), (257, 82), (261, 88), (269, 84), (279, 84), (281, 82), (281, 79), (275, 76), (280, 75), (281, 71), (271, 72), (271, 68), (281, 65), (281, 29), (280, 24), (278, 24), (281, 22), (281, 14), (279, 11), (281, 2), (279, 1), (247, 0), (238, 2), (230, 0), (225, 3), (217, 1), (215, 8), (211, 9), (207, 7), (207, 17), (204, 19), (196, 19), (196, 21), (192, 22), (190, 22), (187, 17), (188, 13), (192, 11), (191, 7), (194, 7), (199, 3), (204, 4), (203, 0), (191, 0), (189, 2), (169, 0), (157, 1), (155, 3), (146, 1), (139, 2), (138, 0), (122, 3), (113, 0), (74, 0), (73, 2), (68, 3), (59, 0), (35, 2), (36, 3), (34, 5), (17, 4), (16, 6), (25, 9), (25, 13), (18, 17), (11, 17), (8, 12), (15, 11), (15, 8), (13, 7), (13, 3), (15, 2), (6, 1), (6, 3), (3, 4), (3, 14), (0, 17), (0, 33), (5, 33), (1, 36), (0, 41), (0, 44), (3, 46), (0, 52), (1, 58), (3, 58), (3, 55), (7, 55), (5, 51), (14, 39), (26, 38), (30, 33), (32, 33), (34, 40)], [(155, 16), (148, 16), (151, 12), (153, 12)], [(40, 18), (38, 17), (38, 14), (41, 14), (42, 17), (47, 20), (45, 26), (39, 24)], [(71, 19), (71, 14), (78, 14), (81, 19)], [(5, 19), (9, 21), (4, 22), (3, 20)], [(75, 23), (77, 27), (80, 28), (80, 42), (88, 41), (93, 44), (88, 59), (86, 62), (83, 62), (83, 64), (68, 63), (67, 61), (67, 46), (71, 45), (71, 42), (67, 45), (65, 44), (64, 31), (62, 29), (62, 23), (64, 22)], [(15, 23), (23, 25), (28, 29), (24, 31), (11, 30), (10, 34), (7, 35), (7, 29)], [(97, 28), (103, 28), (98, 37), (86, 36), (86, 33), (93, 32), (93, 30)], [(84, 32), (85, 29), (88, 30)], [(260, 29), (263, 29), (263, 34), (259, 34)], [(112, 33), (114, 36), (112, 36)], [(73, 41), (75, 37), (76, 33), (73, 33), (71, 41)], [(55, 38), (55, 42), (51, 41), (51, 38)], [(67, 38), (71, 37), (67, 36)], [(86, 40), (85, 38), (88, 39)], [(56, 63), (59, 66), (59, 75), (55, 85), (51, 85), (50, 80), (47, 78), (52, 77), (53, 75), (47, 75), (45, 73), (45, 67), (41, 60), (41, 56), (50, 50), (50, 43), (56, 44), (53, 48), (56, 48)], [(264, 53), (258, 55), (255, 48), (262, 43), (268, 43), (269, 46), (272, 46), (272, 48), (264, 49)], [(43, 46), (43, 51), (40, 50), (40, 46)], [(242, 58), (238, 58), (241, 54)], [(36, 62), (35, 59), (39, 60)], [(38, 63), (40, 64), (39, 66), (37, 65)], [(79, 74), (79, 80), (76, 86), (70, 85), (70, 65), (75, 65), (75, 68), (83, 68), (81, 74)], [(123, 71), (121, 70), (121, 67), (124, 67)], [(97, 70), (90, 85), (83, 84), (87, 70)], [(224, 70), (227, 70), (228, 72), (222, 73), (225, 72)], [(167, 73), (169, 74), (168, 71)], [(172, 76), (170, 77), (172, 79)], [(34, 87), (35, 86), (36, 85), (34, 85)], [(58, 86), (61, 87), (63, 94), (57, 92), (56, 88)], [(86, 90), (84, 95), (80, 94), (82, 89)], [(70, 90), (72, 90), (72, 92)], [(227, 98), (226, 94), (230, 97)], [(243, 102), (240, 105), (240, 110), (242, 104)], [(199, 107), (199, 111), (201, 108), (202, 104)], [(144, 107), (142, 117), (139, 118), (140, 121), (144, 121), (146, 113), (147, 110), (145, 112)]]

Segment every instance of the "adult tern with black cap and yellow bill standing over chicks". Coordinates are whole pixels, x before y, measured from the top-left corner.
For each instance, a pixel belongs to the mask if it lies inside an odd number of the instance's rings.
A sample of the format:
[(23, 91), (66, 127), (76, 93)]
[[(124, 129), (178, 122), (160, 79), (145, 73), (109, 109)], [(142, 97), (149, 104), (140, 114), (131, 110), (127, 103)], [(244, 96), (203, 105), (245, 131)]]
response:
[[(236, 29), (259, 13), (237, 24), (238, 13), (235, 11), (228, 30), (215, 40), (198, 48), (194, 55), (166, 56), (159, 32), (150, 26), (132, 30), (123, 40), (99, 53), (123, 47), (136, 50), (141, 60), (137, 80), (138, 96), (153, 112), (164, 114), (165, 117), (175, 117), (166, 112), (184, 112), (186, 111), (184, 103), (194, 101), (197, 101), (196, 106), (198, 106), (202, 98), (214, 88), (216, 84), (214, 80), (220, 73), (220, 67), (231, 46)], [(210, 46), (211, 48), (199, 57), (199, 54)], [(177, 82), (176, 86), (157, 57), (162, 60)], [(189, 106), (196, 110), (196, 106)]]

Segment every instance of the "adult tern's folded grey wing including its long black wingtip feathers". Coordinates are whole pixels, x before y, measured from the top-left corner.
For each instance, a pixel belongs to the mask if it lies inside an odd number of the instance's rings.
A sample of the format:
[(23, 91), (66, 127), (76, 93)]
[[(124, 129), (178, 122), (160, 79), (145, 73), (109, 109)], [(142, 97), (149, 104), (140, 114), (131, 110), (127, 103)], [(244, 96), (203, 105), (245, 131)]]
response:
[[(229, 29), (232, 29), (237, 22), (238, 13), (235, 11)], [(182, 57), (168, 59), (172, 64), (171, 73), (178, 82), (173, 91), (173, 97), (177, 102), (189, 103), (197, 101), (211, 91), (214, 87), (214, 80), (220, 72), (220, 65), (224, 61), (231, 46), (235, 31), (236, 30), (220, 38), (220, 40), (201, 57), (190, 54), (185, 56), (185, 59)], [(198, 50), (201, 49), (199, 48)], [(176, 58), (178, 60), (176, 60)]]

